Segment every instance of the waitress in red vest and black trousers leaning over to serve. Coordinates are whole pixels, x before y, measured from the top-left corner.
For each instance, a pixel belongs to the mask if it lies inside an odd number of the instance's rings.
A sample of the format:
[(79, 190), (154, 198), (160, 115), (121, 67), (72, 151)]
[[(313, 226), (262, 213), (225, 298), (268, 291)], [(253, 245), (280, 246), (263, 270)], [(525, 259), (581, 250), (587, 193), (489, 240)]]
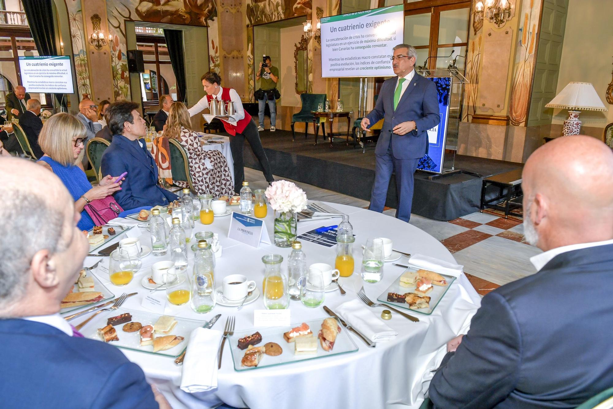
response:
[[(268, 183), (274, 182), (272, 177), (272, 169), (270, 169), (270, 163), (262, 147), (262, 141), (260, 140), (259, 132), (257, 131), (257, 125), (251, 119), (251, 115), (245, 112), (243, 109), (243, 103), (240, 101), (240, 96), (234, 88), (223, 88), (219, 86), (221, 84), (221, 77), (215, 71), (209, 71), (207, 74), (202, 75), (202, 85), (204, 91), (207, 93), (196, 105), (189, 109), (189, 116), (193, 117), (202, 110), (208, 108), (208, 102), (215, 98), (219, 101), (232, 101), (234, 102), (235, 115), (232, 118), (222, 119), (226, 132), (230, 134), (230, 151), (232, 151), (232, 158), (234, 159), (234, 191), (240, 193), (243, 180), (245, 179), (245, 164), (243, 162), (243, 145), (245, 145), (245, 139), (251, 145), (251, 150), (256, 154), (257, 160), (262, 166), (264, 177)], [(220, 118), (221, 119), (221, 118)]]

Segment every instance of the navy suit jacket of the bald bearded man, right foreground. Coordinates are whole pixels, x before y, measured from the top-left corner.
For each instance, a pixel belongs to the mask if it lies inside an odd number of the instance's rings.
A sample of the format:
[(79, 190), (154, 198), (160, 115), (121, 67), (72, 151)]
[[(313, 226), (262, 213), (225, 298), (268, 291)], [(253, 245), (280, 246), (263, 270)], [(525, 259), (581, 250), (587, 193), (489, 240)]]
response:
[(490, 292), (430, 383), (440, 408), (574, 408), (613, 386), (613, 245)]

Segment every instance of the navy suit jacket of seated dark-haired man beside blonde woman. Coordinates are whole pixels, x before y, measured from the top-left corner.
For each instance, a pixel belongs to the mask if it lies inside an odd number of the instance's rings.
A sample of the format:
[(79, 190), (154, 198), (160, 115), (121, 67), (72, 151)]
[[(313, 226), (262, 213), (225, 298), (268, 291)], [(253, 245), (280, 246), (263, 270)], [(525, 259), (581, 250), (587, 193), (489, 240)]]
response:
[(178, 199), (176, 194), (158, 186), (158, 166), (147, 150), (145, 140), (141, 139), (140, 142), (142, 148), (136, 140), (115, 135), (102, 155), (102, 175), (119, 176), (128, 172), (121, 190), (114, 194), (117, 203), (126, 210), (141, 206), (165, 206)]

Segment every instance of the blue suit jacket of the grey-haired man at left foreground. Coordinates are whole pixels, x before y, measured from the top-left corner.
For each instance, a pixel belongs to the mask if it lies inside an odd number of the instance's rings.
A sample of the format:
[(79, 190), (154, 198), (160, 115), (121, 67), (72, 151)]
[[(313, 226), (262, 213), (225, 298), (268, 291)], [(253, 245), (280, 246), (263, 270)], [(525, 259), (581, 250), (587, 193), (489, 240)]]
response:
[(0, 319), (0, 345), (2, 408), (158, 408), (140, 367), (104, 342)]

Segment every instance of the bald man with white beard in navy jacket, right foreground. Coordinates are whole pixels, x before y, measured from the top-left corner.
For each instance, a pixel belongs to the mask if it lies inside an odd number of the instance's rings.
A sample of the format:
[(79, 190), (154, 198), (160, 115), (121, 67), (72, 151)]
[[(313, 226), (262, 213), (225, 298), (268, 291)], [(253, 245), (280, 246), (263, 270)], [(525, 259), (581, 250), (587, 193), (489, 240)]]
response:
[(575, 408), (613, 387), (613, 153), (593, 137), (546, 143), (524, 167), (524, 234), (537, 273), (483, 297), (430, 383), (436, 408)]

